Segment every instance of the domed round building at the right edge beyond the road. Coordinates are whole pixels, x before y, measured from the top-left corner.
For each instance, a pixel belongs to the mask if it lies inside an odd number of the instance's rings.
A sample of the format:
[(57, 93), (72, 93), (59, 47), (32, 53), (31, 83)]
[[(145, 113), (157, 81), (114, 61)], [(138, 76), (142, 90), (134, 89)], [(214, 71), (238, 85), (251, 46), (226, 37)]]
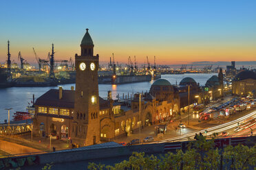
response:
[(235, 95), (250, 95), (256, 97), (256, 73), (241, 71), (232, 82), (232, 92)]

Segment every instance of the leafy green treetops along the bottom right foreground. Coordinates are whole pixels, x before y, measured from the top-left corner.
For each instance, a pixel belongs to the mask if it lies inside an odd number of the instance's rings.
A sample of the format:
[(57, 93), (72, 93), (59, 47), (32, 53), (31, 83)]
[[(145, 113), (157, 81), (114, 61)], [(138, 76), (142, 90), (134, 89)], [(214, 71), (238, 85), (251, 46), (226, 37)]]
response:
[[(187, 150), (169, 152), (164, 156), (146, 156), (144, 152), (134, 152), (129, 160), (111, 165), (89, 163), (92, 170), (155, 170), (155, 169), (250, 169), (256, 165), (256, 145), (247, 147), (228, 146), (224, 150), (215, 148), (214, 138), (206, 140), (205, 136), (197, 135), (197, 140), (189, 143)], [(223, 159), (222, 159), (223, 156)]]

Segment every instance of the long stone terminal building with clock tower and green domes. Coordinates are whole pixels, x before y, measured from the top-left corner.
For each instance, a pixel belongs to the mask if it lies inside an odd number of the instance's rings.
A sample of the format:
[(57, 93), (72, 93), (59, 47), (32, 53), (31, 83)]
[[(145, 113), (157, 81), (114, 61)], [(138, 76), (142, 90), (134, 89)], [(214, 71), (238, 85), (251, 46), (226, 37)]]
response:
[(94, 42), (87, 29), (81, 55), (75, 55), (76, 88), (51, 89), (36, 99), (34, 135), (70, 138), (80, 147), (94, 145), (127, 136), (138, 130), (140, 123), (145, 127), (176, 117), (188, 109), (188, 104), (209, 101), (208, 93), (204, 94), (190, 77), (184, 78), (179, 86), (156, 80), (141, 99), (136, 94), (130, 101), (114, 101), (110, 91), (107, 99), (103, 99), (98, 95), (98, 58), (98, 54), (94, 56)]

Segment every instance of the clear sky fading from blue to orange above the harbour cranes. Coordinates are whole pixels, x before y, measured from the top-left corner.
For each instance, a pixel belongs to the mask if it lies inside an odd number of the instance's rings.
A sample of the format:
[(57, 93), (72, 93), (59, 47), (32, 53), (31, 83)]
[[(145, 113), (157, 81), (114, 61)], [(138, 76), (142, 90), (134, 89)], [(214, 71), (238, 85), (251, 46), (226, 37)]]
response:
[(34, 62), (32, 47), (46, 58), (79, 53), (89, 28), (102, 62), (111, 53), (126, 62), (146, 56), (159, 63), (253, 60), (256, 56), (256, 1), (1, 1), (0, 62), (6, 42)]

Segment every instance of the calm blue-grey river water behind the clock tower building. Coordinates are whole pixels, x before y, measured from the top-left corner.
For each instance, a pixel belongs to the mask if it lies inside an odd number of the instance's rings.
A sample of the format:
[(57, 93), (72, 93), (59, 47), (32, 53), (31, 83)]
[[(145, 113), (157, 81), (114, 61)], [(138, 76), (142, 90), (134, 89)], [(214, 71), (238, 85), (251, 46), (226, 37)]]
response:
[[(192, 77), (195, 82), (200, 83), (201, 86), (204, 86), (206, 81), (216, 73), (200, 73), (200, 74), (183, 74), (183, 75), (162, 75), (162, 78), (169, 80), (171, 84), (179, 84), (180, 80), (184, 77)], [(112, 91), (113, 98), (116, 98), (116, 95), (122, 97), (122, 93), (127, 95), (128, 93), (137, 93), (137, 92), (146, 92), (149, 91), (152, 82), (140, 82), (132, 84), (120, 84), (120, 85), (111, 85), (111, 84), (99, 84), (99, 94), (100, 97), (107, 97), (107, 91)], [(69, 90), (71, 86), (75, 84), (65, 84), (62, 85), (63, 89)], [(47, 90), (51, 88), (58, 87), (12, 87), (12, 88), (0, 88), (0, 122), (3, 122), (4, 119), (8, 119), (8, 110), (5, 108), (12, 108), (10, 111), (10, 119), (12, 115), (17, 111), (25, 111), (25, 108), (28, 106), (28, 103), (32, 101), (32, 95), (34, 94), (35, 99), (40, 97)]]

